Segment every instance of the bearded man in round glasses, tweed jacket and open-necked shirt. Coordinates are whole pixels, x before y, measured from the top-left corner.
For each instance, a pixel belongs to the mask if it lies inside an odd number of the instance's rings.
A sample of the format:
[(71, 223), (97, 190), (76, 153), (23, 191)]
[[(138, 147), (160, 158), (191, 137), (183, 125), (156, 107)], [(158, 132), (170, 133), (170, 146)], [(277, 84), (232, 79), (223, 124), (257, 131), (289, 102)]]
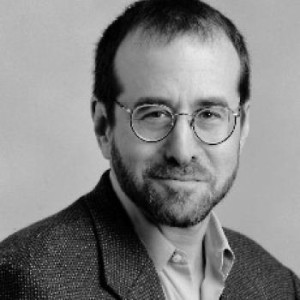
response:
[(146, 0), (104, 32), (92, 117), (110, 171), (0, 245), (1, 299), (298, 299), (300, 281), (213, 208), (249, 131), (242, 35), (199, 0)]

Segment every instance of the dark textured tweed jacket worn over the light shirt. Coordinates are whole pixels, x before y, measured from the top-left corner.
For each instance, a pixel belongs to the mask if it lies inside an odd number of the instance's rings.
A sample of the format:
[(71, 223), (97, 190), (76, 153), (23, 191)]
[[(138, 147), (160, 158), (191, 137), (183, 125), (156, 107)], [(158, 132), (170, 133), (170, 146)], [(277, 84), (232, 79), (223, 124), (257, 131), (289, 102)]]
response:
[[(292, 271), (245, 236), (225, 234), (236, 260), (221, 299), (300, 299)], [(70, 207), (0, 243), (0, 299), (165, 299), (108, 173)]]

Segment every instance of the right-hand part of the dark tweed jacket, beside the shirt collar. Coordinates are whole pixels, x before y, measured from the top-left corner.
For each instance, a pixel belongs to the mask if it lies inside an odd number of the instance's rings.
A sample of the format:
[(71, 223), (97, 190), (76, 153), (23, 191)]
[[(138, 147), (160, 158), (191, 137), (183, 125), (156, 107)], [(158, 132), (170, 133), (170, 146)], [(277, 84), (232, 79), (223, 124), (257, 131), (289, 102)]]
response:
[(227, 292), (246, 297), (252, 291), (257, 299), (258, 295), (268, 295), (268, 299), (282, 299), (278, 295), (300, 297), (300, 281), (290, 269), (251, 238), (228, 228), (224, 232), (235, 254)]

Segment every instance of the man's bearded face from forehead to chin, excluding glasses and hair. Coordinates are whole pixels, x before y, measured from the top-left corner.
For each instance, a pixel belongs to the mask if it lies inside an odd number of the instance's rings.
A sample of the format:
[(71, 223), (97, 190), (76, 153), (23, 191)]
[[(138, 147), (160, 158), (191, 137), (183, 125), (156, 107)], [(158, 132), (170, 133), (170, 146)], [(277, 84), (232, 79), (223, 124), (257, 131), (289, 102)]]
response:
[[(131, 109), (145, 98), (159, 99), (176, 113), (193, 113), (207, 102), (234, 111), (239, 106), (239, 58), (221, 35), (162, 43), (132, 34), (117, 52), (115, 72), (123, 87), (118, 101)], [(237, 120), (227, 141), (209, 146), (195, 136), (188, 116), (179, 116), (172, 132), (155, 143), (140, 140), (118, 106), (115, 116), (103, 152), (127, 196), (157, 224), (188, 227), (202, 221), (234, 181), (248, 118), (243, 126)]]

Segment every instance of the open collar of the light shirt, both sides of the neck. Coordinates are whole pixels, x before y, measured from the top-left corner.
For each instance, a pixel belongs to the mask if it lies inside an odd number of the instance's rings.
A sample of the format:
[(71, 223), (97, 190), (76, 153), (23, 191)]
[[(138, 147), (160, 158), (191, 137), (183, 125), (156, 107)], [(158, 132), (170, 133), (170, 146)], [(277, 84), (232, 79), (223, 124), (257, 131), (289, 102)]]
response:
[[(151, 223), (140, 209), (122, 191), (113, 171), (110, 172), (112, 186), (124, 206), (134, 229), (148, 251), (158, 272), (167, 265), (174, 254), (176, 247)], [(227, 278), (233, 262), (234, 253), (231, 250), (220, 221), (214, 212), (208, 216), (209, 219), (205, 233), (205, 257), (206, 271), (216, 274), (224, 280)]]

